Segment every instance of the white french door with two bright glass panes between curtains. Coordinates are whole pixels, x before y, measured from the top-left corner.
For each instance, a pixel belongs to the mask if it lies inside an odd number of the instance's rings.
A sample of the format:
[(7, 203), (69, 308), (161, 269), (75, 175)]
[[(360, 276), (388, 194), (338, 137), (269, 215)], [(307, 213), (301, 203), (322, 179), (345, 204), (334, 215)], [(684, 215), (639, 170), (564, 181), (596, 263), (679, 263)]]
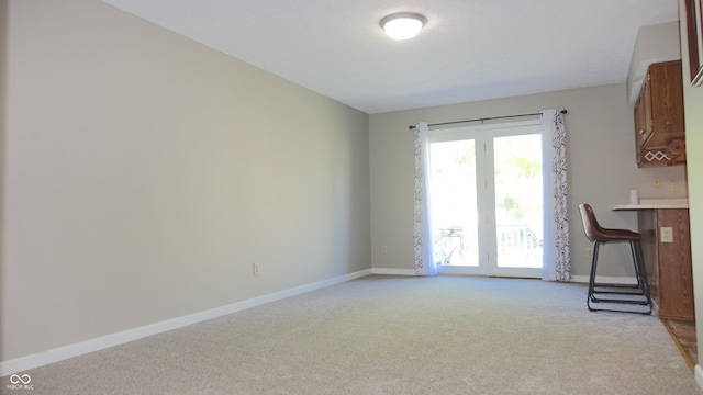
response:
[(440, 273), (539, 276), (539, 122), (433, 131), (429, 202)]

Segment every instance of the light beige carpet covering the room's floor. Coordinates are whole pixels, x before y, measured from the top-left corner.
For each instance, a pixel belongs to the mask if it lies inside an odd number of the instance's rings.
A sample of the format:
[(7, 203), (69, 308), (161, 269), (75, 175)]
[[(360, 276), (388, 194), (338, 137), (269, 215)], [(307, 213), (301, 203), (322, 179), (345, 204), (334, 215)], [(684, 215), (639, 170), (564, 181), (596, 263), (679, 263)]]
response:
[(658, 318), (585, 293), (372, 275), (26, 373), (32, 395), (703, 394)]

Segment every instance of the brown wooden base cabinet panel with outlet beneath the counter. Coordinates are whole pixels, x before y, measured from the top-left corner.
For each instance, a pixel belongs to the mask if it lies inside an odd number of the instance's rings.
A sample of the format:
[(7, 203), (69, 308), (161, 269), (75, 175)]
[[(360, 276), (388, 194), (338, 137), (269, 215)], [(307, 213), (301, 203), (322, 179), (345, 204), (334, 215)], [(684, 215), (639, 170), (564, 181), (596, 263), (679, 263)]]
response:
[[(638, 222), (655, 309), (662, 318), (693, 319), (689, 211), (643, 210)], [(672, 229), (672, 242), (662, 242), (662, 227)]]

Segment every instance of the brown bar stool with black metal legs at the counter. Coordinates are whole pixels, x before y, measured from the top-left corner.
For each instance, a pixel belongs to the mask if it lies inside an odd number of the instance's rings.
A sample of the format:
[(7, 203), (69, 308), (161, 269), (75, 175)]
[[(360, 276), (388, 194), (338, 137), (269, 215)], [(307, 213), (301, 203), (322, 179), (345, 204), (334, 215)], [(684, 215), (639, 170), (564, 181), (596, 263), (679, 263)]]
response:
[[(593, 242), (593, 257), (591, 259), (591, 275), (589, 278), (589, 295), (587, 306), (589, 311), (623, 312), (651, 314), (651, 296), (649, 294), (649, 282), (641, 253), (641, 236), (626, 229), (606, 229), (599, 225), (593, 214), (593, 208), (589, 204), (580, 204), (581, 221), (583, 232), (589, 241)], [(633, 256), (633, 264), (637, 276), (637, 284), (598, 284), (595, 273), (600, 246), (606, 242), (628, 242)], [(598, 305), (603, 303), (604, 305)], [(615, 308), (617, 305), (647, 306), (641, 308)], [(598, 306), (598, 307), (595, 307)], [(603, 307), (601, 307), (603, 306)]]

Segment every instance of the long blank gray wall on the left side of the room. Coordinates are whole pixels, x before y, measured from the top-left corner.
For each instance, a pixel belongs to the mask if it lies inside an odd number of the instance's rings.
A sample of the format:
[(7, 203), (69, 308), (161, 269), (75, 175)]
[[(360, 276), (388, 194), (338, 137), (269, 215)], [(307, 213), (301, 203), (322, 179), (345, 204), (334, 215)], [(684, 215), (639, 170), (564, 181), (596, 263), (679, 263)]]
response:
[(371, 268), (367, 114), (98, 0), (8, 3), (3, 360)]

